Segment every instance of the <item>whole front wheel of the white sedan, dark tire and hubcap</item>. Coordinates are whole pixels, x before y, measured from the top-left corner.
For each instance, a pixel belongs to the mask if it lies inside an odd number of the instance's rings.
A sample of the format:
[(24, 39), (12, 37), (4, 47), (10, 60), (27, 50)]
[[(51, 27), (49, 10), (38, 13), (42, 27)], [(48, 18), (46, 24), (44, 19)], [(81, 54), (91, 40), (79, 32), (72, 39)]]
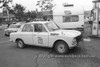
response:
[(64, 41), (58, 41), (55, 44), (55, 51), (59, 54), (66, 54), (69, 50), (68, 44), (66, 44)]

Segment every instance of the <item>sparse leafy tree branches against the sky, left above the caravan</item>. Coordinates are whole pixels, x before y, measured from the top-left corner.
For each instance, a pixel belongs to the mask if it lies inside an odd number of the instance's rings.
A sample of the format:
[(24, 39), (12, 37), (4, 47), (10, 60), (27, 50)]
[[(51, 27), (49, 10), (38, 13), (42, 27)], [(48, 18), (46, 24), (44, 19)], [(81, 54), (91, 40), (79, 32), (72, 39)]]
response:
[(52, 10), (55, 6), (52, 2), (53, 0), (39, 0), (36, 5), (39, 6), (41, 10)]

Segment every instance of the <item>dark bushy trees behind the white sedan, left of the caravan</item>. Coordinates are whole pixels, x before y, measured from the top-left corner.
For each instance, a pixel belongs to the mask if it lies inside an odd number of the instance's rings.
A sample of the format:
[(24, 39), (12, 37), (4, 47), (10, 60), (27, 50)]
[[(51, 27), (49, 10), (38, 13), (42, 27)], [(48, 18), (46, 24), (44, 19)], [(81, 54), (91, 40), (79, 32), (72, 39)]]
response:
[(33, 20), (37, 15), (36, 11), (25, 12), (25, 7), (20, 4), (16, 4), (13, 9), (9, 10), (9, 13), (14, 14), (17, 21)]

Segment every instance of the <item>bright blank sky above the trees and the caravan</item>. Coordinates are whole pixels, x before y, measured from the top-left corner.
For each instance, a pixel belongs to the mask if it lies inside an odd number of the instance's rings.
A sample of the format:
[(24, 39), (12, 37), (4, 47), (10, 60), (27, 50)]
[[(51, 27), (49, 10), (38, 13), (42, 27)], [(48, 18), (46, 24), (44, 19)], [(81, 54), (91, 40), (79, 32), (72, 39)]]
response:
[[(23, 5), (26, 10), (36, 10), (38, 6), (36, 6), (36, 3), (39, 0), (13, 0), (12, 5), (15, 5), (16, 3)], [(69, 3), (74, 4), (76, 6), (81, 6), (84, 8), (84, 10), (91, 10), (93, 7), (92, 1), (93, 0), (53, 0), (55, 4), (61, 5), (62, 3)]]

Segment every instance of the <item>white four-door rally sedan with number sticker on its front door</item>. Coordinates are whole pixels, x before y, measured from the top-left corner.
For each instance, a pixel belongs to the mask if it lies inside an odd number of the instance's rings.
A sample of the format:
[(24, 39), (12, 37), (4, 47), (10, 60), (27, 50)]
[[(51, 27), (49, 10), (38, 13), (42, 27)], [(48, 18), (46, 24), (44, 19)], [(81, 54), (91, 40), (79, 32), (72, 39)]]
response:
[(81, 32), (62, 30), (54, 22), (37, 21), (21, 26), (20, 30), (10, 34), (10, 41), (17, 43), (19, 48), (26, 45), (53, 47), (59, 54), (65, 54), (78, 45)]

